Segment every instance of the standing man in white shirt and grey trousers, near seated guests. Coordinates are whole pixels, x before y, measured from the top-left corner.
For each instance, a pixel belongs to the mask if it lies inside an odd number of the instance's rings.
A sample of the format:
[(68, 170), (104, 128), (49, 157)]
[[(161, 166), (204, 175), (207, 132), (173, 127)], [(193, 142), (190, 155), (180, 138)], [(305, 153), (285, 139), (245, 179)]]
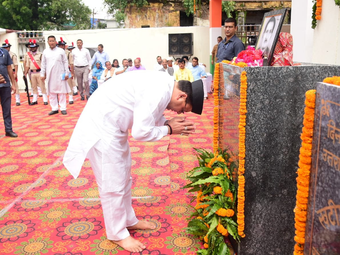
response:
[(80, 100), (85, 100), (83, 82), (85, 85), (86, 99), (90, 97), (90, 86), (88, 84), (88, 74), (91, 71), (91, 55), (88, 49), (83, 48), (83, 41), (77, 40), (77, 47), (73, 49), (73, 64), (75, 77), (77, 78)]

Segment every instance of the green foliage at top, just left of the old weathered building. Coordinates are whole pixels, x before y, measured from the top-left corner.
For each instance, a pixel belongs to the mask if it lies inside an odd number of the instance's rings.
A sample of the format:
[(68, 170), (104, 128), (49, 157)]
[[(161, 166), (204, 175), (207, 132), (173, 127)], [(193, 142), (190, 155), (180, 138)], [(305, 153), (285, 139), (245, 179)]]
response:
[(128, 3), (141, 8), (149, 4), (146, 0), (104, 0), (104, 5), (108, 7), (107, 12), (114, 14), (116, 21), (125, 21), (125, 9), (128, 7)]

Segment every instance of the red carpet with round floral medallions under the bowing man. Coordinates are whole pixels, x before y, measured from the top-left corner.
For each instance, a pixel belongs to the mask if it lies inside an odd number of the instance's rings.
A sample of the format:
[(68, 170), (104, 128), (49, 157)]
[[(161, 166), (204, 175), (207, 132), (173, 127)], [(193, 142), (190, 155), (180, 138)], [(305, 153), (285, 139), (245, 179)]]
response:
[[(50, 105), (21, 105), (12, 98), (13, 131), (4, 136), (0, 121), (0, 254), (89, 255), (130, 254), (106, 239), (98, 187), (88, 160), (77, 179), (62, 157), (86, 104), (74, 97), (67, 115), (48, 116)], [(166, 117), (174, 117), (166, 112)], [(192, 210), (181, 187), (185, 175), (198, 165), (195, 148), (212, 148), (213, 99), (204, 101), (202, 116), (188, 113), (196, 134), (166, 136), (157, 142), (130, 138), (133, 157), (133, 206), (140, 219), (156, 223), (153, 231), (131, 231), (147, 249), (137, 254), (195, 254), (199, 240), (183, 227)]]

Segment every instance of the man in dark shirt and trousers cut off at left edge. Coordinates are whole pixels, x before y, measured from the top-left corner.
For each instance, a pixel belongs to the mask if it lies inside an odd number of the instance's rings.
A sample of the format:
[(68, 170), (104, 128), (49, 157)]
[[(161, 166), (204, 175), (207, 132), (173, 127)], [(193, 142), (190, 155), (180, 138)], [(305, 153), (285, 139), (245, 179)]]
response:
[[(11, 117), (11, 91), (13, 94), (16, 92), (14, 74), (10, 53), (7, 50), (0, 47), (0, 75), (3, 76), (4, 82), (0, 83), (0, 101), (2, 108), (2, 117), (5, 126), (6, 136), (18, 137), (12, 130), (12, 117)], [(0, 77), (1, 78), (1, 77)], [(0, 82), (3, 81), (0, 79)], [(10, 82), (11, 81), (11, 82)], [(11, 87), (11, 83), (13, 86)]]

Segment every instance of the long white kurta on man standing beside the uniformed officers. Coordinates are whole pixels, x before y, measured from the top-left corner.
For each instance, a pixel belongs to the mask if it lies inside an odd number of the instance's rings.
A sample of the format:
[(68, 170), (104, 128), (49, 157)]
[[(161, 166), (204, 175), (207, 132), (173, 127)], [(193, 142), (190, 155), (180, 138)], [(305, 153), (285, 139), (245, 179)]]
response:
[(47, 93), (64, 94), (71, 92), (67, 80), (61, 80), (61, 75), (64, 73), (69, 75), (69, 72), (65, 50), (55, 47), (43, 51), (40, 77), (44, 77), (46, 73)]

